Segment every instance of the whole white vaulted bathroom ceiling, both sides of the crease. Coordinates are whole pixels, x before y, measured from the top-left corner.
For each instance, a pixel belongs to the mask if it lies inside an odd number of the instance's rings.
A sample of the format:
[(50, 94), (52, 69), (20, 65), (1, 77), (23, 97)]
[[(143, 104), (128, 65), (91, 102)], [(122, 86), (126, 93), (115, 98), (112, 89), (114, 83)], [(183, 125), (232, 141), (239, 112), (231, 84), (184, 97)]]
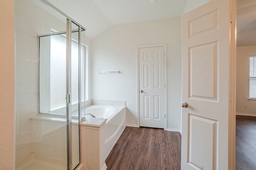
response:
[[(112, 25), (173, 18), (182, 15), (187, 0), (48, 0), (86, 27), (94, 38)], [(153, 1), (153, 0), (152, 0)]]

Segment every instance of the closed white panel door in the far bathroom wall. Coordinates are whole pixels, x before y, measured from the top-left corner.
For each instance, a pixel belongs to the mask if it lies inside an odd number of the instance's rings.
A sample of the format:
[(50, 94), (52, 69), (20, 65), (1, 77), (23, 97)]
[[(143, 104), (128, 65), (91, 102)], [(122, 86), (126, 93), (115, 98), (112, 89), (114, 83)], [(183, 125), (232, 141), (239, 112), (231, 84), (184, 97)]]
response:
[(164, 129), (164, 47), (139, 48), (140, 126)]

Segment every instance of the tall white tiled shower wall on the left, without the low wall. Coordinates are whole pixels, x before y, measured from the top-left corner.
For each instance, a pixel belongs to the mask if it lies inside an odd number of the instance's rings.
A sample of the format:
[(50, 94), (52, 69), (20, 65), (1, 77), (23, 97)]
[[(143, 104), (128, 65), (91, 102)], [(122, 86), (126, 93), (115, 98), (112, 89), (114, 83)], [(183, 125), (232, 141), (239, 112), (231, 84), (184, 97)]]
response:
[(33, 152), (30, 117), (38, 114), (38, 38), (50, 33), (42, 25), (15, 13), (16, 162)]

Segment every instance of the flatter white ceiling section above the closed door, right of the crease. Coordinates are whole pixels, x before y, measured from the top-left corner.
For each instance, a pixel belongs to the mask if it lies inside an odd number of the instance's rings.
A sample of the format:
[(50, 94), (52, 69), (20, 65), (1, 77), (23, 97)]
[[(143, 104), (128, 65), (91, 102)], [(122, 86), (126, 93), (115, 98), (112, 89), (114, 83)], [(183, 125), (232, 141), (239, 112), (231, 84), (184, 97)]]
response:
[[(187, 0), (94, 0), (113, 25), (181, 16)], [(153, 2), (153, 0), (152, 0)]]

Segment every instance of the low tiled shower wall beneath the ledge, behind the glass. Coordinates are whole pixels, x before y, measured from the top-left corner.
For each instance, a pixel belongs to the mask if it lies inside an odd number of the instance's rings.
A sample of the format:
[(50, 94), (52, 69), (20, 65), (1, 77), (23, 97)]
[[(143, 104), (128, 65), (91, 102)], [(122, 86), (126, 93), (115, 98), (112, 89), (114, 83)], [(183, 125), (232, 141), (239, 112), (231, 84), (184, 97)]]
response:
[[(79, 163), (79, 126), (72, 124), (72, 160)], [(66, 123), (59, 121), (31, 120), (31, 153), (56, 160), (67, 160)]]

